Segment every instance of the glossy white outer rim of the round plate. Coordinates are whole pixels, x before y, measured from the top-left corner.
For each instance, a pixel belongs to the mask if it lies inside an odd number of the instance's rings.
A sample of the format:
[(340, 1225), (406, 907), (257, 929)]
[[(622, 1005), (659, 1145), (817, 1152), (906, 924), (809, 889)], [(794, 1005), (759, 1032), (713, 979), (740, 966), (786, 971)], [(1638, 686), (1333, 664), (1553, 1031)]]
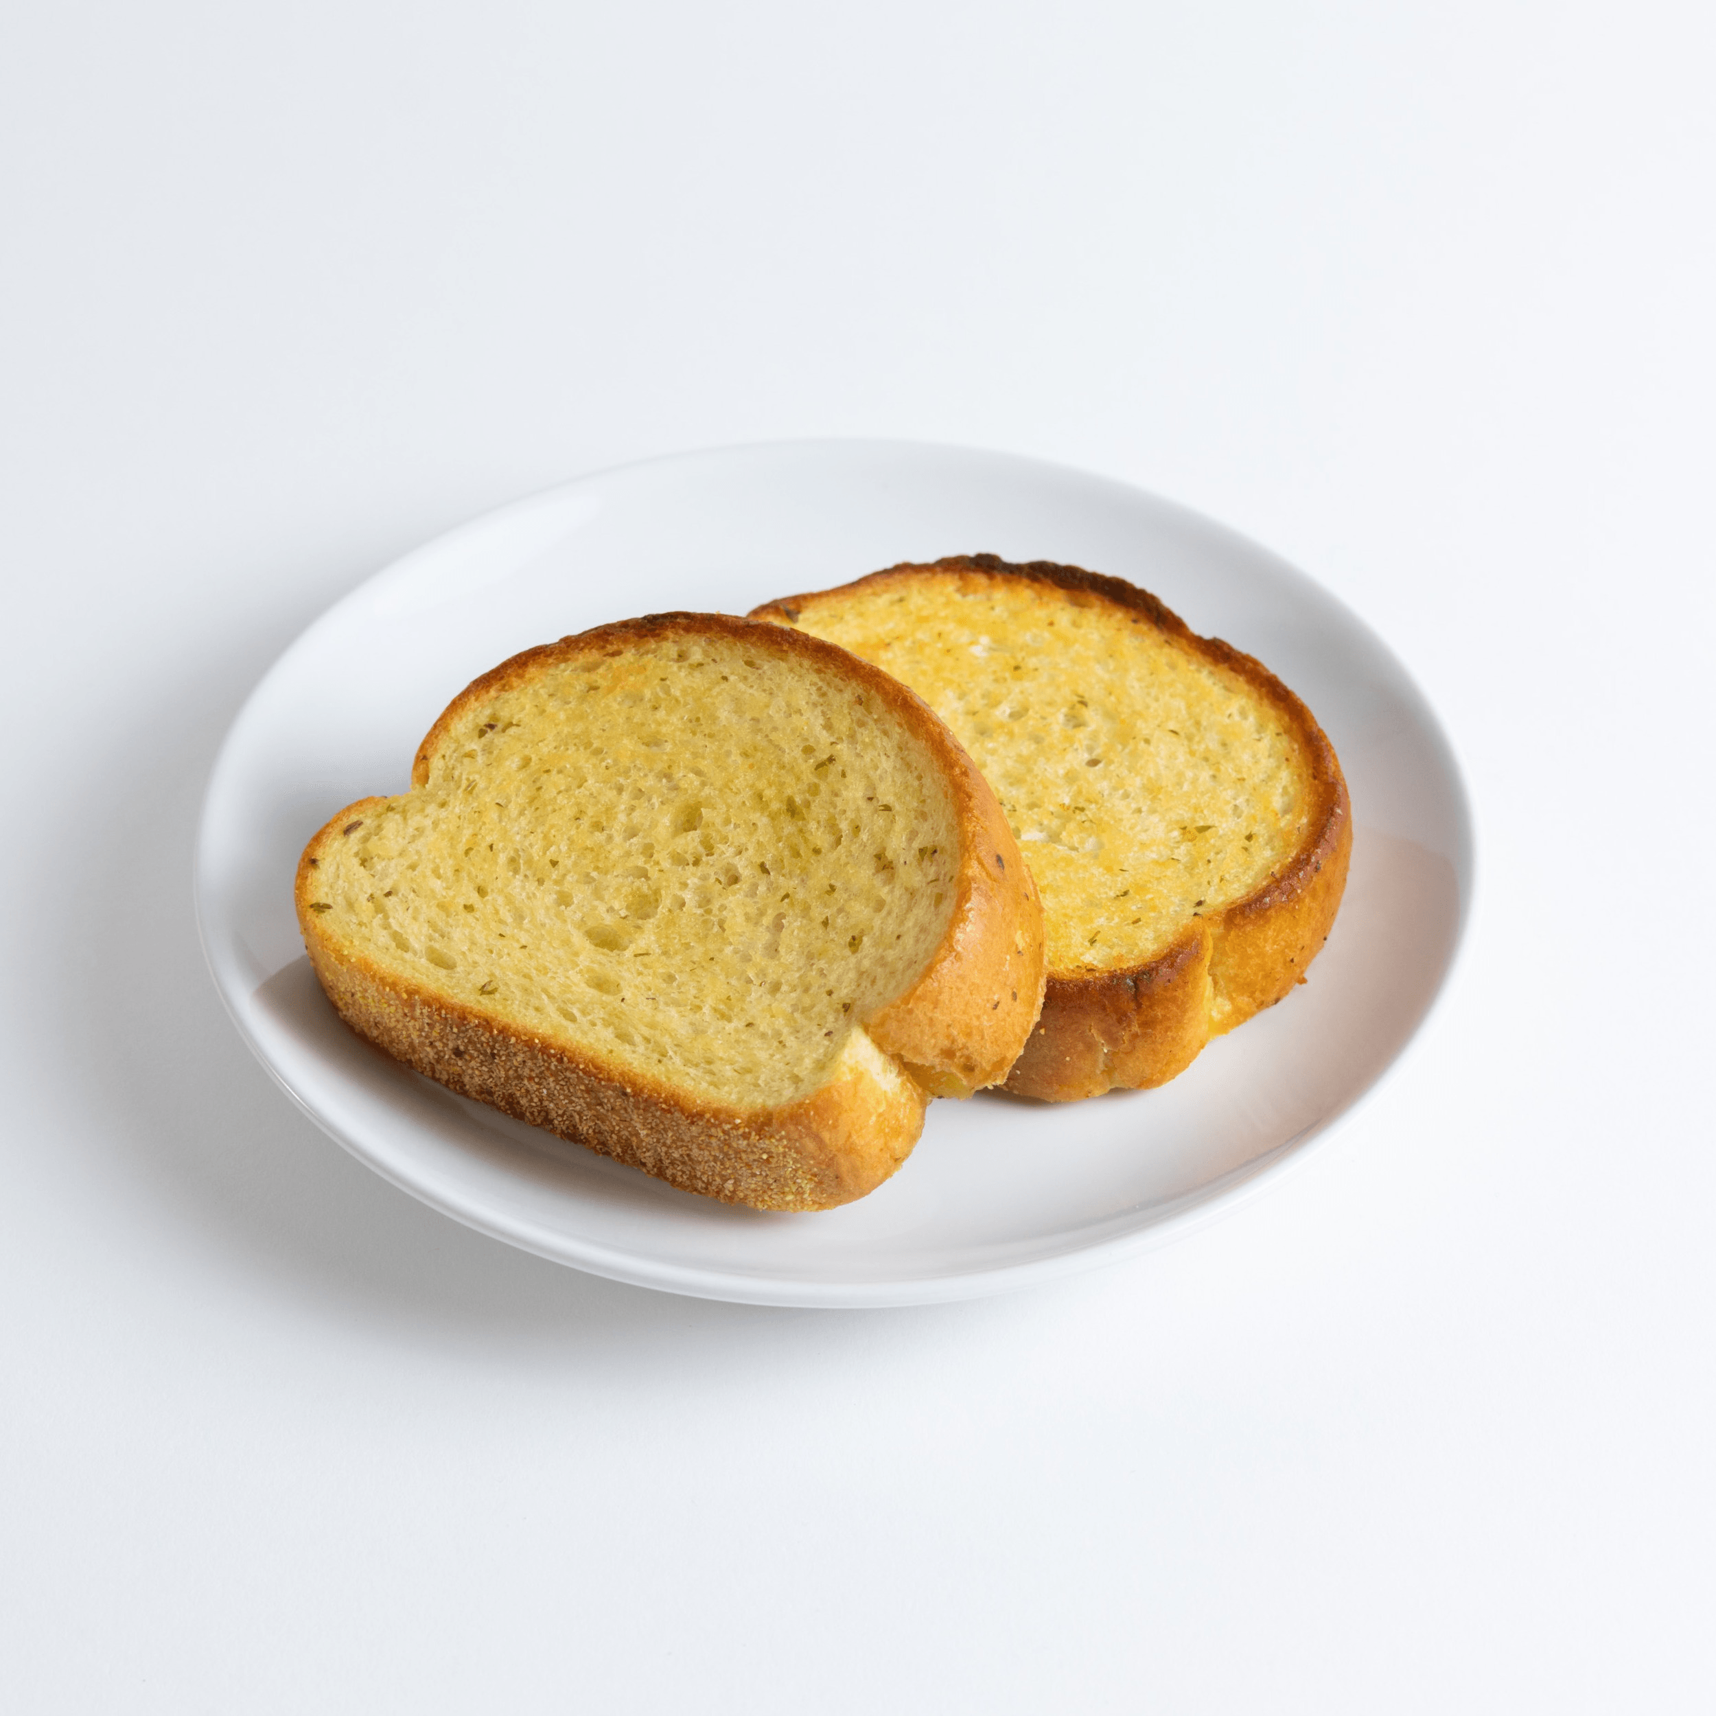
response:
[[(311, 1095), (290, 1083), (287, 1071), (276, 1064), (275, 1057), (268, 1052), (268, 1047), (263, 1042), (259, 1019), (252, 1018), (254, 1009), (249, 1006), (251, 997), (245, 992), (240, 973), (232, 970), (228, 964), (228, 949), (216, 940), (214, 923), (211, 921), (213, 899), (208, 875), (208, 848), (213, 841), (211, 817), (216, 808), (216, 795), (223, 784), (221, 777), (228, 767), (228, 757), (233, 752), (233, 745), (245, 724), (247, 716), (263, 697), (269, 681), (273, 681), (276, 673), (280, 673), (283, 664), (304, 645), (312, 631), (316, 631), (324, 621), (331, 619), (336, 613), (343, 611), (348, 604), (362, 599), (366, 592), (369, 592), (381, 578), (395, 571), (403, 561), (426, 549), (439, 547), (456, 537), (463, 537), (467, 534), (479, 535), (506, 515), (541, 506), (553, 498), (570, 496), (582, 487), (619, 474), (642, 472), (669, 465), (709, 463), (721, 458), (731, 458), (734, 455), (767, 456), (805, 453), (812, 450), (831, 453), (837, 450), (851, 450), (855, 453), (928, 453), (956, 455), (973, 460), (997, 460), (1024, 467), (1043, 475), (1057, 475), (1062, 479), (1072, 477), (1083, 482), (1112, 487), (1150, 503), (1150, 506), (1160, 510), (1162, 513), (1179, 517), (1199, 532), (1225, 537), (1246, 554), (1266, 561), (1277, 573), (1287, 573), (1294, 582), (1309, 585), (1323, 601), (1332, 602), (1337, 609), (1340, 609), (1345, 619), (1364, 633), (1369, 645), (1388, 659), (1400, 681), (1411, 690), (1412, 698), (1417, 704), (1419, 722), (1440, 752), (1440, 762), (1452, 788), (1457, 846), (1460, 848), (1450, 860), (1455, 872), (1457, 909), (1447, 961), (1440, 971), (1436, 987), (1424, 1006), (1424, 1011), (1417, 1016), (1411, 1033), (1400, 1042), (1390, 1059), (1344, 1109), (1326, 1119), (1302, 1127), (1299, 1133), (1284, 1139), (1280, 1145), (1275, 1145), (1261, 1157), (1239, 1163), (1217, 1179), (1206, 1181), (1194, 1191), (1186, 1193), (1175, 1201), (1179, 1205), (1177, 1208), (1170, 1205), (1165, 1213), (1146, 1220), (1141, 1227), (1114, 1234), (1107, 1239), (1097, 1239), (1088, 1244), (1074, 1244), (1055, 1253), (1054, 1256), (1033, 1258), (1019, 1263), (901, 1277), (882, 1282), (817, 1282), (784, 1275), (753, 1275), (731, 1268), (712, 1268), (705, 1265), (683, 1265), (656, 1258), (640, 1258), (637, 1253), (623, 1251), (619, 1248), (602, 1246), (587, 1239), (566, 1239), (563, 1234), (551, 1234), (539, 1224), (532, 1224), (520, 1217), (513, 1217), (513, 1220), (505, 1222), (492, 1213), (472, 1210), (460, 1205), (456, 1199), (443, 1196), (429, 1177), (414, 1181), (396, 1172), (395, 1165), (388, 1158), (369, 1150), (360, 1138), (350, 1136), (343, 1131), (331, 1115), (321, 1112)], [(1248, 1206), (1254, 1198), (1261, 1196), (1263, 1191), (1273, 1187), (1292, 1167), (1306, 1162), (1313, 1151), (1323, 1146), (1356, 1115), (1369, 1107), (1369, 1103), (1399, 1076), (1402, 1066), (1405, 1066), (1411, 1054), (1423, 1042), (1433, 1021), (1440, 1018), (1464, 966), (1465, 944), (1477, 903), (1479, 880), (1477, 819), (1467, 781), (1469, 776), (1462, 765), (1462, 757), (1452, 734), (1443, 724), (1435, 705), (1424, 695), (1416, 676), (1405, 668), (1387, 640), (1383, 640), (1361, 614), (1349, 607), (1345, 601), (1318, 583), (1309, 573), (1302, 571), (1273, 549), (1256, 542), (1234, 527), (1138, 484), (1126, 482), (1124, 479), (1110, 477), (1103, 472), (1088, 470), (1078, 465), (1067, 465), (1057, 460), (1036, 458), (1033, 455), (994, 448), (975, 448), (963, 443), (896, 439), (880, 436), (807, 436), (693, 448), (604, 465), (474, 513), (470, 518), (426, 537), (422, 542), (414, 544), (402, 554), (395, 554), (381, 566), (374, 568), (367, 577), (360, 578), (340, 597), (319, 609), (290, 638), (290, 642), (273, 657), (268, 668), (256, 678), (244, 702), (233, 712), (214, 753), (214, 760), (209, 765), (208, 779), (197, 805), (190, 880), (197, 942), (202, 949), (202, 959), (208, 966), (214, 990), (220, 995), (228, 1018), (237, 1028), (240, 1040), (263, 1064), (280, 1090), (285, 1091), (292, 1103), (309, 1121), (312, 1121), (319, 1131), (329, 1136), (388, 1184), (408, 1193), (417, 1201), (426, 1203), (429, 1208), (450, 1217), (460, 1225), (491, 1239), (498, 1239), (551, 1263), (559, 1263), (589, 1275), (597, 1275), (601, 1278), (633, 1287), (649, 1287), (661, 1292), (734, 1304), (801, 1309), (889, 1309), (913, 1304), (947, 1304), (1018, 1292), (1036, 1284), (1064, 1280), (1097, 1268), (1109, 1268), (1124, 1263), (1129, 1258), (1174, 1244), (1175, 1241), (1189, 1237), (1191, 1234), (1199, 1232), (1201, 1229), (1210, 1227), (1215, 1222), (1224, 1220), (1227, 1215)]]

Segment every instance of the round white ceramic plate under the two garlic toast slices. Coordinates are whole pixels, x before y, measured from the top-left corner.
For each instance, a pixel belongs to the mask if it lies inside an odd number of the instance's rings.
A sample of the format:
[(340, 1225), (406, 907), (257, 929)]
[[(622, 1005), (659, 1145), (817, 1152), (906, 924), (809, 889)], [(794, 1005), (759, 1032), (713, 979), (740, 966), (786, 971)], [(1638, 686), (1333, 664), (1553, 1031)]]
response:
[[(1117, 573), (1261, 657), (1352, 789), (1352, 877), (1311, 982), (1172, 1085), (1067, 1107), (937, 1102), (911, 1160), (822, 1215), (678, 1193), (408, 1072), (345, 1030), (292, 913), (304, 841), (408, 784), (467, 681), (628, 614), (745, 613), (901, 559), (990, 551)], [(378, 573), (287, 650), (233, 722), (197, 844), (214, 982), (304, 1110), (396, 1186), (541, 1256), (760, 1304), (959, 1299), (1184, 1232), (1347, 1114), (1417, 1030), (1471, 894), (1448, 745), (1400, 664), (1302, 573), (1138, 489), (958, 448), (798, 443), (604, 472)]]

